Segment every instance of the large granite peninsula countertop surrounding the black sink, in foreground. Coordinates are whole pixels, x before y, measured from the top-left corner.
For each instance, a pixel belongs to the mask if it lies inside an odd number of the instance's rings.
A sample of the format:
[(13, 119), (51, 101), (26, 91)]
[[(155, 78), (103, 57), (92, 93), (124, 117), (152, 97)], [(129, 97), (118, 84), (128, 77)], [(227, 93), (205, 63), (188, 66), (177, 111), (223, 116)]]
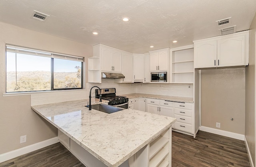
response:
[[(118, 167), (176, 121), (132, 109), (106, 114), (84, 107), (87, 102), (88, 99), (31, 108), (108, 167)], [(92, 98), (92, 104), (96, 103), (100, 102)]]

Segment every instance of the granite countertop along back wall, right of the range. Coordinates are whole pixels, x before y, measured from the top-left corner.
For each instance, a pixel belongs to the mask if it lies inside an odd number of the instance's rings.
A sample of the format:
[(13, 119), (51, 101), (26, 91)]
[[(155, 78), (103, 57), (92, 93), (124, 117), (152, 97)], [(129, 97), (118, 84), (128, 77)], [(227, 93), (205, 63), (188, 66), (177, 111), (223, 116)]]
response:
[(160, 100), (170, 100), (174, 102), (189, 102), (193, 103), (193, 98), (189, 97), (178, 97), (178, 96), (164, 96), (164, 95), (155, 95), (155, 94), (142, 94), (142, 93), (132, 93), (132, 94), (122, 94), (120, 96), (126, 96), (128, 98), (154, 98), (154, 99), (160, 99)]

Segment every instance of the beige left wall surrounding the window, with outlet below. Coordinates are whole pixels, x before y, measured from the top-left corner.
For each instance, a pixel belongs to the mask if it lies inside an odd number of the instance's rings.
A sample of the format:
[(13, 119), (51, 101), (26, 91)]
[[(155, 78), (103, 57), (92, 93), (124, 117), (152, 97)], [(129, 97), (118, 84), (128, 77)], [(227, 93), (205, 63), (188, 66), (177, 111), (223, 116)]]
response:
[[(30, 95), (3, 96), (5, 45), (91, 57), (92, 46), (0, 22), (0, 154), (57, 136), (57, 130), (30, 108)], [(87, 60), (86, 60), (87, 61)], [(20, 144), (20, 136), (27, 142)]]

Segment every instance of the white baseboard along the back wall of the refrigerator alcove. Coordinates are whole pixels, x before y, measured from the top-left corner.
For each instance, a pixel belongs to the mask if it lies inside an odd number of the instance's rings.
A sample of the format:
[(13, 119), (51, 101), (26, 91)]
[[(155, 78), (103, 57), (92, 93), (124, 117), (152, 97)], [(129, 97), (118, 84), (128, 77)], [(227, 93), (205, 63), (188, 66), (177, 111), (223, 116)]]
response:
[(199, 130), (244, 141), (244, 135), (236, 134), (234, 132), (228, 132), (228, 131), (225, 131), (225, 130), (218, 130), (218, 129), (209, 128), (209, 127), (206, 127), (206, 126), (200, 126)]

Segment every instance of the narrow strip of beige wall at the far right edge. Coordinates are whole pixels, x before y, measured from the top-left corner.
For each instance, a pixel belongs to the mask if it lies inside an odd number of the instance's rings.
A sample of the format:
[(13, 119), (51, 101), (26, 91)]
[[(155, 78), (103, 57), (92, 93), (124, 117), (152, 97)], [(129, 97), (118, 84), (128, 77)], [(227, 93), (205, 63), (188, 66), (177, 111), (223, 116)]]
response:
[(255, 32), (256, 14), (250, 26), (249, 66), (246, 67), (245, 136), (255, 165)]

